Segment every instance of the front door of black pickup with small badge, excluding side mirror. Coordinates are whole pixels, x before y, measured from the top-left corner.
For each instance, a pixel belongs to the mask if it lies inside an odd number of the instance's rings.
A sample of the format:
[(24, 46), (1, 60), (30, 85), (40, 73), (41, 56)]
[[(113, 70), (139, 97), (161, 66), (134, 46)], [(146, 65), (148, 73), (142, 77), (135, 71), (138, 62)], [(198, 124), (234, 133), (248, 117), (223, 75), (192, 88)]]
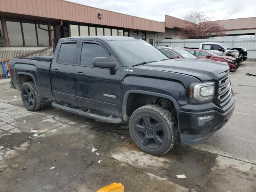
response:
[(77, 103), (110, 114), (121, 114), (119, 103), (122, 65), (119, 62), (119, 68), (115, 71), (92, 65), (92, 60), (96, 57), (112, 57), (117, 60), (113, 52), (103, 42), (81, 40), (78, 54), (74, 71)]

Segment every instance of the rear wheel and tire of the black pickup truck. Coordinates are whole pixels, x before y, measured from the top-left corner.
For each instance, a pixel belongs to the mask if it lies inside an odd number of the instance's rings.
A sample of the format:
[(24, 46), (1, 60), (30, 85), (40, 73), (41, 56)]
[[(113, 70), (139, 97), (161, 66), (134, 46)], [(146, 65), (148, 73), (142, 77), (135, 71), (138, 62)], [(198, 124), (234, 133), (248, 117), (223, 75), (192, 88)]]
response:
[(33, 82), (25, 82), (22, 84), (20, 93), (22, 102), (27, 110), (38, 111), (43, 107), (44, 102), (40, 101), (38, 91)]

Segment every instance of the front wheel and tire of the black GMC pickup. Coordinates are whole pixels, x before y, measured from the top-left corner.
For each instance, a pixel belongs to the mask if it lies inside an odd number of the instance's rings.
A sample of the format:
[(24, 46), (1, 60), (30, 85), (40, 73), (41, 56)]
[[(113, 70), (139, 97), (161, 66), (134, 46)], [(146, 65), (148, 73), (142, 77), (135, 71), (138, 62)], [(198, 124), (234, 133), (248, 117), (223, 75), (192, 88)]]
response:
[(173, 148), (177, 130), (174, 116), (160, 105), (149, 104), (135, 110), (129, 121), (133, 142), (142, 151), (162, 155)]

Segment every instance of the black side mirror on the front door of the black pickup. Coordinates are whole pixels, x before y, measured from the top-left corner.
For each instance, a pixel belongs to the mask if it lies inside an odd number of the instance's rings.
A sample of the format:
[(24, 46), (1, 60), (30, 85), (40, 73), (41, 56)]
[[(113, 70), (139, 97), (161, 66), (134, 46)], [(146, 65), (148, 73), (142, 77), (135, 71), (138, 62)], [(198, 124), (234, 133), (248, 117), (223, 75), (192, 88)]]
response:
[(92, 65), (94, 67), (118, 70), (118, 63), (116, 61), (113, 61), (112, 58), (108, 57), (95, 57), (92, 60)]

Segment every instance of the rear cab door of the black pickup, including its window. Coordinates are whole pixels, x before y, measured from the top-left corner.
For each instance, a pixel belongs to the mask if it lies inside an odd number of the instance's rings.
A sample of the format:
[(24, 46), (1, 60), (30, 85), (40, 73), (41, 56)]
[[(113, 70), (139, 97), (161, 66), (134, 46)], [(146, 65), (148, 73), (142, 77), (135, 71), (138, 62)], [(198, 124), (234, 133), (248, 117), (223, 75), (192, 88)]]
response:
[(52, 93), (58, 101), (75, 103), (74, 69), (80, 39), (62, 40), (54, 53), (50, 69)]

